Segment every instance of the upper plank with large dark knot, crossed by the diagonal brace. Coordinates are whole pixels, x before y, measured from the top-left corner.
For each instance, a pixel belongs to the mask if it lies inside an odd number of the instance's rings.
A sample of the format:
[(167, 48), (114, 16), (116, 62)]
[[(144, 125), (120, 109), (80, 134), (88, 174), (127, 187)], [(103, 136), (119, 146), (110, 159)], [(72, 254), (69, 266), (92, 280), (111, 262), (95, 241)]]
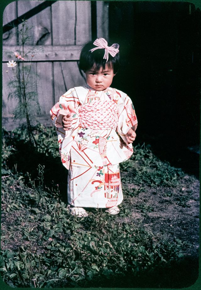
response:
[[(44, 1), (36, 0), (20, 0), (18, 1), (18, 16), (26, 13), (30, 9), (38, 6)], [(29, 31), (30, 40), (27, 45), (51, 45), (51, 8), (47, 7), (38, 14), (27, 20), (27, 24), (31, 28)], [(22, 24), (19, 25), (19, 29)]]

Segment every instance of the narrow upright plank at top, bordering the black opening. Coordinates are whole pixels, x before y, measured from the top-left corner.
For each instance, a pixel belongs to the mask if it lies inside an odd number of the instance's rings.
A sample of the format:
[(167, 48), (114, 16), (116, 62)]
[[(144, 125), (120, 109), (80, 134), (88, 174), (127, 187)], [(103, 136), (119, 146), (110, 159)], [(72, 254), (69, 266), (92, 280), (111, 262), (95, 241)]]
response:
[(109, 39), (109, 3), (96, 1), (97, 38)]

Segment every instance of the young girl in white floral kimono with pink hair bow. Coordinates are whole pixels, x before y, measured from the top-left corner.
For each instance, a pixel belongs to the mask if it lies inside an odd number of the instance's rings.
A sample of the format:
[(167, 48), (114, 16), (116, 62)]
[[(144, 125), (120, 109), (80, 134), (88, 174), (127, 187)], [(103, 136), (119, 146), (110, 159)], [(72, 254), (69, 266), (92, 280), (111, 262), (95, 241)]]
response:
[(119, 163), (133, 154), (137, 118), (131, 99), (110, 87), (118, 48), (104, 38), (88, 42), (79, 60), (87, 86), (69, 89), (50, 111), (68, 169), (68, 208), (78, 217), (88, 216), (83, 207), (117, 214), (123, 200)]

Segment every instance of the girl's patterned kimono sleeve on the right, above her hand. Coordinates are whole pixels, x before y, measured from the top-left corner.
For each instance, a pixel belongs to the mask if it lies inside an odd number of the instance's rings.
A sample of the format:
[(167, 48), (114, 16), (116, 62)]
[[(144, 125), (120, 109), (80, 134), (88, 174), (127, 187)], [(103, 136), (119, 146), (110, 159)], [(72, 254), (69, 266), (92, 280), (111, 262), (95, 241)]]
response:
[(123, 141), (126, 142), (125, 135), (128, 130), (132, 128), (134, 131), (137, 128), (137, 117), (135, 114), (135, 109), (131, 99), (127, 94), (121, 92), (119, 94), (121, 98), (117, 102), (118, 107), (118, 126), (117, 132), (122, 137)]

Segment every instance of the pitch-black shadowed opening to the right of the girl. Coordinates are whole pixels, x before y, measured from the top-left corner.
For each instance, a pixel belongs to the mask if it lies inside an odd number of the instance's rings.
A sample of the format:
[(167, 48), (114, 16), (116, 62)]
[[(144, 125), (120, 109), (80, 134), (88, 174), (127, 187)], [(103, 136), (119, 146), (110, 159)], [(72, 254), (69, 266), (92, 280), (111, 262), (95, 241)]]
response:
[(133, 100), (136, 142), (198, 175), (200, 10), (187, 2), (108, 3), (109, 38), (122, 56), (113, 87)]

